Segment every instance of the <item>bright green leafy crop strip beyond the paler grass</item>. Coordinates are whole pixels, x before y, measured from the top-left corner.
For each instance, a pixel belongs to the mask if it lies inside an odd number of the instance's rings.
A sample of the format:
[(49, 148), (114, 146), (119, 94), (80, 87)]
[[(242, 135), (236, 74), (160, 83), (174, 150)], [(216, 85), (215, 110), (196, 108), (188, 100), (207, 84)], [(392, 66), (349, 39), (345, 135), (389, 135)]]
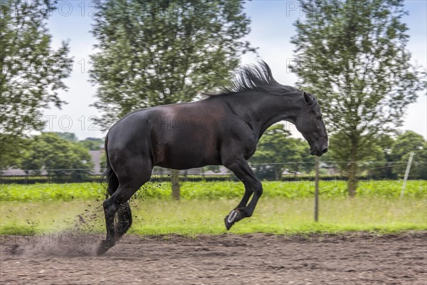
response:
[[(359, 182), (358, 197), (399, 197), (402, 181), (400, 180), (364, 180)], [(263, 197), (301, 199), (312, 197), (314, 183), (297, 182), (263, 182)], [(321, 181), (320, 196), (338, 198), (347, 196), (347, 184), (344, 181)], [(72, 201), (73, 199), (104, 199), (105, 188), (99, 183), (72, 184), (33, 184), (1, 185), (0, 201)], [(138, 199), (170, 199), (169, 183), (147, 183), (137, 192)], [(181, 181), (182, 199), (239, 199), (243, 195), (241, 182), (185, 182)], [(406, 185), (405, 197), (427, 198), (427, 181), (413, 180)]]

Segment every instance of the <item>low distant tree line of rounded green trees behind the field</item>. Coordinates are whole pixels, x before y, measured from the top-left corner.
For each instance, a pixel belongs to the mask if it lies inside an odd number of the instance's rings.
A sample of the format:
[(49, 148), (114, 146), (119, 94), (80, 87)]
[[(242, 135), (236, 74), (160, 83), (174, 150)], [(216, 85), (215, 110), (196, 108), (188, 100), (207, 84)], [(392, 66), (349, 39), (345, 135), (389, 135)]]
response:
[[(325, 175), (339, 175), (347, 170), (348, 163), (339, 160), (336, 154), (335, 140), (332, 135), (332, 151), (322, 157), (320, 162)], [(104, 140), (86, 138), (78, 140), (74, 133), (46, 132), (25, 139), (26, 147), (21, 150), (19, 159), (14, 161), (15, 168), (28, 170), (28, 174), (75, 175), (82, 170), (93, 170), (89, 150), (101, 150)], [(263, 180), (280, 180), (283, 172), (289, 175), (310, 174), (315, 159), (310, 155), (310, 147), (300, 138), (292, 138), (285, 125), (276, 124), (265, 131), (258, 143), (258, 149), (249, 162), (253, 171)], [(366, 157), (365, 169), (359, 176), (374, 179), (401, 179), (404, 177), (410, 152), (414, 153), (411, 167), (411, 179), (427, 180), (427, 141), (422, 135), (407, 130), (396, 138), (389, 136), (376, 141), (376, 147)], [(105, 156), (102, 155), (100, 167), (105, 168)], [(336, 163), (335, 161), (339, 162)], [(218, 167), (204, 167), (201, 171), (218, 172)], [(332, 173), (333, 172), (333, 173)], [(345, 176), (345, 175), (343, 175)]]

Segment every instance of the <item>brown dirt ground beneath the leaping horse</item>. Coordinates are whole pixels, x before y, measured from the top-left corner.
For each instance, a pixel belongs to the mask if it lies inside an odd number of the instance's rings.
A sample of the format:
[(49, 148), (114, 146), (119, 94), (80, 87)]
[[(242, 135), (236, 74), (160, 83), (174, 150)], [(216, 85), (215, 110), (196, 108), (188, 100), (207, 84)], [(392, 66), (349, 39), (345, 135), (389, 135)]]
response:
[(1, 236), (1, 284), (427, 284), (427, 232)]

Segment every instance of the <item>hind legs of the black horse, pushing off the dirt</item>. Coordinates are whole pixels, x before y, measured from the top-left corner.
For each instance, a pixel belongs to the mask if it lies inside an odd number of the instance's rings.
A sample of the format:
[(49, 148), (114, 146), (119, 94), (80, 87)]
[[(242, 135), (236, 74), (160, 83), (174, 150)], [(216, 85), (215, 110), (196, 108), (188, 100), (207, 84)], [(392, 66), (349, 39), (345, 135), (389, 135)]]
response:
[[(106, 199), (103, 203), (105, 214), (105, 225), (107, 227), (107, 239), (103, 240), (97, 248), (97, 254), (104, 254), (115, 245), (116, 231), (117, 237), (120, 238), (132, 223), (129, 203), (127, 202), (132, 195), (137, 192), (139, 187), (144, 185), (149, 180), (152, 172), (152, 164), (150, 161), (139, 160), (134, 157), (128, 161), (127, 165), (131, 167), (122, 166), (120, 171), (116, 172), (119, 180), (119, 187), (117, 190)], [(120, 209), (122, 207), (122, 209)], [(120, 211), (119, 211), (120, 209)], [(115, 228), (114, 218), (117, 214), (117, 229)]]

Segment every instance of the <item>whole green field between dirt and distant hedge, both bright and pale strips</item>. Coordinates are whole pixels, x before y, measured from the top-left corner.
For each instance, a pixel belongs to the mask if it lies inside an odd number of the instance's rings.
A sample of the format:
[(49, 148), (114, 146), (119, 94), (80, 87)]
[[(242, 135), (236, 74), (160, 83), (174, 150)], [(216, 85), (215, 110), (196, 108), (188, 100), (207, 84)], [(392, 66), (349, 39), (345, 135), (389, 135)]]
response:
[[(289, 231), (427, 229), (427, 182), (360, 181), (357, 197), (347, 198), (342, 181), (320, 183), (320, 222), (313, 222), (314, 184), (263, 182), (264, 194), (253, 217), (238, 222), (232, 233)], [(104, 232), (101, 204), (105, 189), (97, 183), (1, 185), (0, 231), (23, 234), (78, 229)], [(182, 182), (181, 201), (170, 198), (168, 183), (144, 185), (132, 199), (137, 234), (225, 232), (223, 218), (243, 195), (240, 182)], [(82, 222), (85, 221), (85, 222)]]

